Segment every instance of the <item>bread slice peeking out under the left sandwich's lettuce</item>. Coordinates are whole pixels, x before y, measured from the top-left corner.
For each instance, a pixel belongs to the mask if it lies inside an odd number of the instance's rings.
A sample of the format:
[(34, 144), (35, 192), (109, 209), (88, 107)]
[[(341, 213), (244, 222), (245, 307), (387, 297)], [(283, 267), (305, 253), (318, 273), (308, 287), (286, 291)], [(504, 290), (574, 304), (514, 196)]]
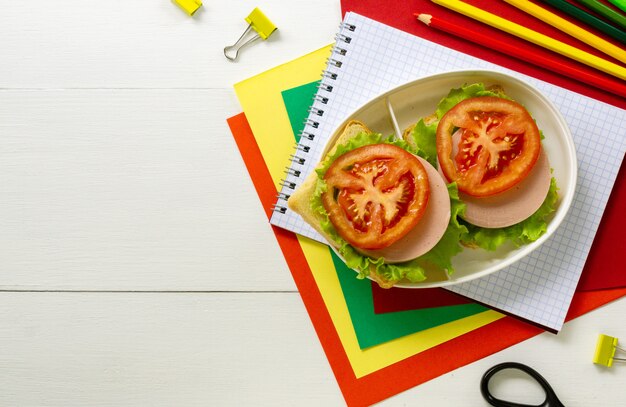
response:
[[(343, 131), (339, 132), (339, 134), (337, 134), (334, 139), (331, 139), (329, 141), (321, 161), (324, 161), (326, 157), (334, 153), (337, 149), (337, 146), (347, 143), (348, 140), (358, 136), (361, 133), (372, 133), (372, 131), (365, 124), (358, 120), (351, 120), (350, 122), (348, 122)], [(328, 234), (326, 234), (326, 232), (324, 232), (320, 227), (320, 223), (323, 220), (322, 216), (311, 210), (311, 199), (313, 198), (313, 194), (315, 193), (316, 185), (317, 173), (313, 171), (293, 192), (293, 194), (291, 194), (291, 196), (287, 200), (287, 206), (289, 207), (289, 209), (299, 214), (302, 219), (304, 219), (305, 222), (311, 225), (313, 229), (315, 229), (320, 235), (322, 235), (329, 244), (332, 244), (334, 247), (338, 248), (339, 244), (335, 242)], [(370, 278), (376, 281), (383, 288), (392, 287), (394, 284), (394, 282), (386, 281), (382, 276), (376, 274), (373, 268), (370, 272)]]

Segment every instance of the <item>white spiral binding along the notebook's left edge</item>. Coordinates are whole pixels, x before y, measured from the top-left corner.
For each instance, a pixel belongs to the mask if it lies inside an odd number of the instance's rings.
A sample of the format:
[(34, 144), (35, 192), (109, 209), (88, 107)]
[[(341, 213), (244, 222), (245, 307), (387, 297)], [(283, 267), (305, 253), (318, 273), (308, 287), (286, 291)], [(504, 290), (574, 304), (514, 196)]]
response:
[[(343, 62), (341, 57), (348, 53), (348, 49), (344, 48), (342, 43), (350, 44), (352, 37), (346, 34), (346, 31), (355, 31), (356, 26), (353, 24), (341, 23), (339, 33), (335, 36), (335, 45), (333, 46), (331, 56), (327, 59), (327, 68), (322, 72), (322, 80), (317, 85), (317, 92), (313, 97), (313, 103), (327, 105), (333, 92), (333, 81), (339, 77), (337, 72), (341, 69)], [(320, 125), (320, 118), (324, 116), (324, 108), (311, 106), (308, 109), (309, 116), (304, 120), (304, 128), (300, 132), (300, 143), (296, 144), (295, 152), (290, 155), (291, 164), (285, 168), (286, 177), (280, 180), (281, 191), (277, 195), (277, 202), (272, 206), (272, 211), (279, 213), (287, 212), (285, 204), (291, 192), (296, 189), (297, 182), (302, 172), (300, 168), (306, 163), (306, 154), (310, 151), (310, 143), (315, 139), (316, 129)]]

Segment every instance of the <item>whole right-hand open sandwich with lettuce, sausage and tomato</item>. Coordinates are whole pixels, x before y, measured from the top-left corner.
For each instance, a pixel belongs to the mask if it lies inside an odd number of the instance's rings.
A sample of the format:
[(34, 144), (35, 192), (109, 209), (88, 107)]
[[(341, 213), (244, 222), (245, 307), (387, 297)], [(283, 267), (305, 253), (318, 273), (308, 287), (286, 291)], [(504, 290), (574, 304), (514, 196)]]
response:
[(465, 209), (461, 243), (496, 250), (537, 240), (558, 200), (556, 180), (531, 114), (499, 87), (450, 91), (403, 138), (454, 182)]

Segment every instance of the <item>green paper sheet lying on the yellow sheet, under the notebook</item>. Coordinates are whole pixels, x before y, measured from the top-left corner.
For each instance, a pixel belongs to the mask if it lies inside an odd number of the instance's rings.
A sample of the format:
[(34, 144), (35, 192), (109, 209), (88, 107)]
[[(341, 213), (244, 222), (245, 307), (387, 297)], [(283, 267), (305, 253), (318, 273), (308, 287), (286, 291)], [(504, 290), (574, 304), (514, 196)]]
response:
[[(311, 82), (284, 90), (281, 93), (296, 140), (299, 139), (300, 131), (304, 127), (304, 120), (308, 116), (308, 109), (317, 90), (317, 83)], [(371, 281), (358, 280), (356, 272), (348, 268), (332, 250), (331, 254), (361, 349), (478, 314), (488, 309), (478, 304), (462, 304), (376, 314), (374, 313)], [(415, 290), (415, 295), (419, 295), (418, 289)]]

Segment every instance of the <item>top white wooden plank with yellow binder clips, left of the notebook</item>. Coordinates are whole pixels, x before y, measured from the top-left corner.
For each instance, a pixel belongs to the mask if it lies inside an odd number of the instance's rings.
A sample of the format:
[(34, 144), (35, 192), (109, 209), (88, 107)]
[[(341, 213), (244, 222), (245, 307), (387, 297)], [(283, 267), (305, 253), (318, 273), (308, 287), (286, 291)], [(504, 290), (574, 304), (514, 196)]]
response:
[[(172, 1), (3, 2), (0, 88), (230, 88), (334, 40), (333, 0), (206, 1), (193, 17)], [(223, 54), (254, 7), (278, 26)]]

